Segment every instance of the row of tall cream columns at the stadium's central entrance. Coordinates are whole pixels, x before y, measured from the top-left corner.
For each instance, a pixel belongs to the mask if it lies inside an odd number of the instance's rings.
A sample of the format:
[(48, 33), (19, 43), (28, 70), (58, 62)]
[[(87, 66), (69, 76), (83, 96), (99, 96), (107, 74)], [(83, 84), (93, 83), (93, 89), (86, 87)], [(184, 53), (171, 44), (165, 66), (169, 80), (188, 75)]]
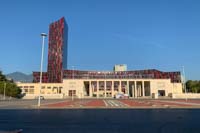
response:
[[(129, 97), (137, 98), (147, 96), (147, 94), (145, 94), (145, 89), (149, 89), (150, 91), (150, 81), (91, 80), (88, 82), (90, 97), (107, 98), (114, 97), (118, 93), (123, 93), (127, 94)], [(149, 83), (146, 88), (145, 82)], [(108, 87), (108, 85), (110, 86)]]

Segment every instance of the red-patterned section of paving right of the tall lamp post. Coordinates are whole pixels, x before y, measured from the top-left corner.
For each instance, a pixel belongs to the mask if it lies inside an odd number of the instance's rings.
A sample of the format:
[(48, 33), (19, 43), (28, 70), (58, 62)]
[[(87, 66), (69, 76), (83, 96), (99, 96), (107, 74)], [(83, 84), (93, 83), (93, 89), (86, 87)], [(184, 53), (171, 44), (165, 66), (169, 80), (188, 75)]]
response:
[(44, 108), (200, 108), (200, 100), (87, 99), (43, 104)]

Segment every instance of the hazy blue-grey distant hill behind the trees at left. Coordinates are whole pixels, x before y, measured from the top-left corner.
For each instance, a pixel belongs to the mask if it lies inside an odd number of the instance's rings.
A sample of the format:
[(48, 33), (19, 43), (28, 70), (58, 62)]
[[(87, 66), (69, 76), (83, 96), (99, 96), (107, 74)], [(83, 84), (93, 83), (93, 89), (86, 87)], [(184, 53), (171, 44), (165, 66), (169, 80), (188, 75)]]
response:
[(6, 75), (6, 78), (13, 79), (15, 82), (32, 82), (33, 76), (32, 74), (24, 74), (22, 72), (13, 72)]

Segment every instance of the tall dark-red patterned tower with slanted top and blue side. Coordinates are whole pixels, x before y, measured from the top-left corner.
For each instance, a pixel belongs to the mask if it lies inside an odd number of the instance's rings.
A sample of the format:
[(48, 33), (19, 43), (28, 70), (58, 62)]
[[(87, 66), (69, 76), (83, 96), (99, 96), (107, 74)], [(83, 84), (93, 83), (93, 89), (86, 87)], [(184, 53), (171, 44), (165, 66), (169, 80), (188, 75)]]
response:
[(67, 33), (64, 17), (49, 26), (48, 82), (61, 83), (63, 69), (67, 69)]

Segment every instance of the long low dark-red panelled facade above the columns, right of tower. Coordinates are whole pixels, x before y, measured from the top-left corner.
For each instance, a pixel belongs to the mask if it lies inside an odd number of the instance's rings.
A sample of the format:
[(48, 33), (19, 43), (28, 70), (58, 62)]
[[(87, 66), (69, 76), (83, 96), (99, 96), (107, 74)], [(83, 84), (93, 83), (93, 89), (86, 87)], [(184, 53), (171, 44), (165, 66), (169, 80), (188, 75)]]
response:
[(64, 70), (65, 79), (171, 79), (173, 83), (181, 82), (180, 72), (161, 72), (158, 70), (121, 71), (121, 72), (97, 72)]

